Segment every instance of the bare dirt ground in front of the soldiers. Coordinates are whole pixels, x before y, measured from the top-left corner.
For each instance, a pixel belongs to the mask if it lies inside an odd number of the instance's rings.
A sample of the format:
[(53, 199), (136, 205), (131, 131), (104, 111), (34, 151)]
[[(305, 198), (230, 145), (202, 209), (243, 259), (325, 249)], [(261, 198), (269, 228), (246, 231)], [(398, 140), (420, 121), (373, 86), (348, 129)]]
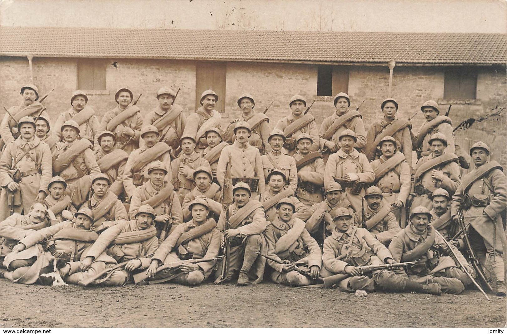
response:
[(506, 299), (232, 283), (84, 288), (0, 280), (0, 327), (504, 327)]

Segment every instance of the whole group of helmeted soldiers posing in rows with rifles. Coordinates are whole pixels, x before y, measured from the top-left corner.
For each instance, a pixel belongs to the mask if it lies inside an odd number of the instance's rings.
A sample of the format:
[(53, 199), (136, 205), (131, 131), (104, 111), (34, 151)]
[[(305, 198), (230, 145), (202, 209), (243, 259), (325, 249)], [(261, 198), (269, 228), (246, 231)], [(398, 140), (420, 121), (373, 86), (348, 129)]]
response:
[(76, 91), (54, 123), (37, 87), (20, 94), (0, 124), (0, 274), (14, 282), (459, 294), (488, 255), (505, 296), (507, 180), (485, 143), (462, 152), (434, 101), (414, 134), (393, 98), (366, 131), (345, 93), (320, 129), (301, 95), (272, 129), (250, 94), (225, 128), (211, 90), (187, 117), (171, 89), (141, 112), (121, 88), (100, 121)]

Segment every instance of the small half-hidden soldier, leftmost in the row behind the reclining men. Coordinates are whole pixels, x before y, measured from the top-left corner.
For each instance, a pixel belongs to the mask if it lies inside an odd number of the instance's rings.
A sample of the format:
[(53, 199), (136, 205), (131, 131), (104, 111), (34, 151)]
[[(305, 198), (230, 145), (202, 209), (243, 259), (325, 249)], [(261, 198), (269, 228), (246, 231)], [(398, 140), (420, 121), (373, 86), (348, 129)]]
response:
[(45, 201), (49, 210), (55, 215), (58, 223), (65, 220), (73, 220), (74, 214), (77, 212), (76, 207), (72, 203), (71, 196), (64, 193), (67, 188), (65, 180), (59, 176), (55, 176), (49, 181), (49, 195)]

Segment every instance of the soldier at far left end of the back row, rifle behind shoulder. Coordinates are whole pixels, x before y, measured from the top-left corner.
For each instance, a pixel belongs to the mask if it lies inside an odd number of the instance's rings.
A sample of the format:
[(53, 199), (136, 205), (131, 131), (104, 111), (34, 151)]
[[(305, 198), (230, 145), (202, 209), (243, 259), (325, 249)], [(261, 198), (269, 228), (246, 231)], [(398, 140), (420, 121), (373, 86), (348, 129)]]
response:
[[(19, 136), (17, 124), (21, 118), (30, 116), (33, 120), (44, 108), (44, 106), (37, 101), (39, 100), (39, 90), (35, 85), (25, 85), (21, 87), (21, 93), (19, 94), (23, 102), (19, 106), (9, 108), (9, 113), (5, 114), (2, 123), (0, 123), (0, 136), (6, 145), (13, 142)], [(44, 116), (47, 120), (50, 119), (47, 111), (43, 111), (41, 116)], [(51, 121), (49, 123), (51, 123)]]

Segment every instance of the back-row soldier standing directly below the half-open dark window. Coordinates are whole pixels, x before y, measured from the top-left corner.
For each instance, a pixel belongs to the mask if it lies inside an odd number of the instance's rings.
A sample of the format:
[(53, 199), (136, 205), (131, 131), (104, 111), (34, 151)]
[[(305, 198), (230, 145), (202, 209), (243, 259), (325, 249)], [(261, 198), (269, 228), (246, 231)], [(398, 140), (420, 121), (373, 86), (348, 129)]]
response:
[(350, 97), (345, 93), (335, 96), (336, 112), (324, 119), (319, 130), (319, 146), (327, 161), (329, 155), (337, 152), (340, 147), (340, 135), (344, 130), (352, 130), (357, 140), (354, 147), (361, 149), (366, 144), (366, 131), (363, 116), (357, 110), (349, 111)]

